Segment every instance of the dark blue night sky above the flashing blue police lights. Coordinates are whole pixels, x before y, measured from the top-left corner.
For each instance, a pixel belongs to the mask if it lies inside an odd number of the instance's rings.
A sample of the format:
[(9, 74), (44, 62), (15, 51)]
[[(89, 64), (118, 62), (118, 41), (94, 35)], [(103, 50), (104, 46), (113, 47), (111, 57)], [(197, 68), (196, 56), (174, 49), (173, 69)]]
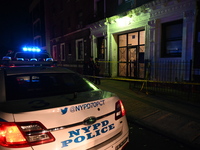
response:
[(32, 0), (1, 0), (0, 56), (31, 42), (29, 5)]

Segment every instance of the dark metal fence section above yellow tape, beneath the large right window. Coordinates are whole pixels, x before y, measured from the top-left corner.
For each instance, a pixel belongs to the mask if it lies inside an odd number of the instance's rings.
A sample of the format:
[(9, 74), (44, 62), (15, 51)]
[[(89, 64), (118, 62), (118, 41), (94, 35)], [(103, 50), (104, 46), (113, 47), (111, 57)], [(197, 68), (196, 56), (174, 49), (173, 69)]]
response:
[(192, 81), (192, 61), (146, 61), (146, 73), (155, 81)]

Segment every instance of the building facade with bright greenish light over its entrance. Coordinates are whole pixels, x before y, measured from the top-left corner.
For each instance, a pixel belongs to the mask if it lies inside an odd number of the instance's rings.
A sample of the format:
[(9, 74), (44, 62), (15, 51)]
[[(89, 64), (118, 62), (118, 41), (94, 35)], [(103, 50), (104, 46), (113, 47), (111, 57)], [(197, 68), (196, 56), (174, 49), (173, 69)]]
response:
[(103, 76), (198, 81), (199, 0), (49, 0), (45, 37), (55, 60), (81, 73), (93, 56)]

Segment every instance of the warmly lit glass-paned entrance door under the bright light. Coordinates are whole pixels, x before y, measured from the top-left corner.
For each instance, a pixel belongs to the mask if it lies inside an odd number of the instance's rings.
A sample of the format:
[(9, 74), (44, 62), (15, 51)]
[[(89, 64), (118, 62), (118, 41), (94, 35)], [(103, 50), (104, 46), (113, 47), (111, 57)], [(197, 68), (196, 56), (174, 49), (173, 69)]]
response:
[(145, 31), (119, 35), (118, 41), (118, 75), (144, 78)]

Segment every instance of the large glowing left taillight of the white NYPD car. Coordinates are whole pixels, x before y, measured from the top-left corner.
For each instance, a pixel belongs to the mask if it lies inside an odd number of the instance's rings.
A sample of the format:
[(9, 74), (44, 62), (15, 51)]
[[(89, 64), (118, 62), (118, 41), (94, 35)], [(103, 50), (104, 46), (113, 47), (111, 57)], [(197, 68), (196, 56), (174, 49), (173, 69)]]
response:
[(0, 122), (1, 146), (19, 148), (53, 141), (53, 135), (40, 122)]

